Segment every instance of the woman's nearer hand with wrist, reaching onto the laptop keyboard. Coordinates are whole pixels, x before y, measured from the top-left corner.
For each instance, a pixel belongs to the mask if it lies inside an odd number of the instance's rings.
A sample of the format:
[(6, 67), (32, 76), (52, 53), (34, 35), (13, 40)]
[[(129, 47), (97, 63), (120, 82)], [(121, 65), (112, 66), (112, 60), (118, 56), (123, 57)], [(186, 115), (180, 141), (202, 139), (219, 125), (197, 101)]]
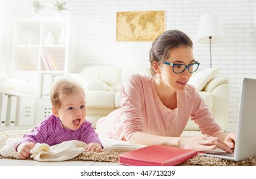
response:
[[(231, 137), (226, 137), (230, 139)], [(225, 141), (219, 139), (219, 137), (212, 137), (209, 135), (196, 136), (196, 137), (181, 137), (181, 148), (190, 148), (198, 152), (214, 150), (220, 148), (225, 152), (232, 152), (228, 144)]]

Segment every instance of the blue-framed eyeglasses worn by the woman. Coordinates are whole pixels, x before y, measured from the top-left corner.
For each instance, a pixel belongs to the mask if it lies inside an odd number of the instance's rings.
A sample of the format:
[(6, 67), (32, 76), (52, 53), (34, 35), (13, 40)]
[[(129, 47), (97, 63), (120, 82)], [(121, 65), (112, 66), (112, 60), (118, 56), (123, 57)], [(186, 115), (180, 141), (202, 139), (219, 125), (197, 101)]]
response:
[(191, 63), (189, 65), (184, 65), (182, 63), (169, 63), (169, 62), (164, 62), (164, 64), (173, 66), (173, 72), (175, 74), (181, 74), (185, 72), (186, 68), (189, 71), (189, 73), (194, 73), (196, 72), (196, 70), (198, 70), (198, 67), (200, 65), (200, 63), (198, 63), (197, 61), (194, 61), (194, 63)]

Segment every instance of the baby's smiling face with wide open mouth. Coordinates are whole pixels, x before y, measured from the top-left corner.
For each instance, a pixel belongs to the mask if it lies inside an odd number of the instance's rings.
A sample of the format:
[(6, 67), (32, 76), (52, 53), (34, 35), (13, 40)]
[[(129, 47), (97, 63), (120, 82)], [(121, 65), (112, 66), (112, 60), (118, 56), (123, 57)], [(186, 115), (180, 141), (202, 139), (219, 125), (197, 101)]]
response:
[(85, 95), (82, 91), (73, 91), (72, 94), (60, 98), (60, 104), (58, 117), (62, 121), (63, 128), (77, 130), (85, 121)]

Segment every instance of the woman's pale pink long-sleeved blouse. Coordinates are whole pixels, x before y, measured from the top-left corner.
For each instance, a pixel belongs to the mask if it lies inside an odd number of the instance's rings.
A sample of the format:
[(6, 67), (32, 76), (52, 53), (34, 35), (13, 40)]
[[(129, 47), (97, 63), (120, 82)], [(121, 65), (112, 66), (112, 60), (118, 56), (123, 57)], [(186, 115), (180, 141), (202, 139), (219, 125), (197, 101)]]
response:
[[(121, 109), (109, 114), (109, 118), (114, 121), (109, 121), (112, 127), (108, 135), (129, 139), (140, 131), (178, 137), (189, 118), (199, 126), (202, 134), (213, 136), (221, 131), (209, 107), (193, 86), (187, 84), (184, 91), (177, 91), (176, 96), (177, 108), (171, 110), (158, 97), (153, 77), (131, 75), (121, 89)], [(108, 121), (108, 116), (104, 120)]]

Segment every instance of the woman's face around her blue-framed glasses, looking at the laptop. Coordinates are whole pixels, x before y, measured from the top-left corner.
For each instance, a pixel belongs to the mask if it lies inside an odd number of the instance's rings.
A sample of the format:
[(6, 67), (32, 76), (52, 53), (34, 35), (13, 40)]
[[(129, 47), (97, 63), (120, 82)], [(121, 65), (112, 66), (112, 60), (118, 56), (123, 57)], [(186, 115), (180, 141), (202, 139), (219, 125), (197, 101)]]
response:
[[(194, 63), (192, 48), (180, 46), (172, 49), (169, 52), (169, 58), (166, 59), (166, 62), (180, 63), (184, 65)], [(175, 72), (173, 72), (173, 66), (162, 64), (160, 65), (160, 75), (162, 77), (162, 82), (169, 86), (169, 88), (172, 88), (175, 91), (180, 91), (185, 89), (192, 74), (189, 73), (187, 68), (181, 74), (175, 74)]]

